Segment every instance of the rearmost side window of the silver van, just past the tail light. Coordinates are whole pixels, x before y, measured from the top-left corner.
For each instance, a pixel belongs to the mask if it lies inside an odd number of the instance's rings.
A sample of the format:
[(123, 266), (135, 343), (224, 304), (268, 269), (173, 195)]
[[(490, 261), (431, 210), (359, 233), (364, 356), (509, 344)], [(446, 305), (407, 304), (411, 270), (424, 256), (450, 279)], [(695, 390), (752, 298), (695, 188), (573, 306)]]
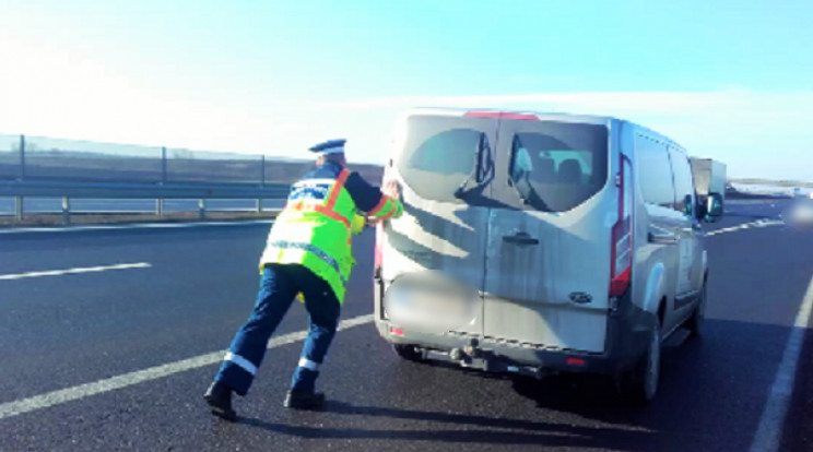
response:
[(674, 186), (672, 167), (665, 144), (644, 135), (635, 138), (638, 157), (638, 180), (644, 192), (644, 201), (649, 204), (673, 209)]

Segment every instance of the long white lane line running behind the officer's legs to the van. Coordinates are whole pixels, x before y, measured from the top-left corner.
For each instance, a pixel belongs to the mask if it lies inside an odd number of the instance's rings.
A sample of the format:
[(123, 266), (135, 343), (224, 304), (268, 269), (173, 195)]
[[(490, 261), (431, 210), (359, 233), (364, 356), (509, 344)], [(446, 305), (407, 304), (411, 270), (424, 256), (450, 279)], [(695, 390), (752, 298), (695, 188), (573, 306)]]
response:
[[(373, 314), (354, 317), (352, 319), (343, 320), (342, 322), (340, 322), (339, 330), (346, 330), (353, 326), (369, 323), (372, 321)], [(293, 344), (305, 340), (307, 335), (307, 331), (297, 331), (295, 333), (274, 337), (268, 342), (268, 348), (275, 348), (283, 345)], [(155, 366), (143, 370), (137, 370), (134, 372), (123, 373), (104, 380), (94, 381), (92, 383), (85, 383), (63, 390), (47, 392), (45, 394), (39, 394), (33, 397), (14, 402), (7, 402), (0, 404), (0, 419), (19, 416), (21, 414), (31, 413), (37, 409), (49, 408), (51, 406), (60, 405), (67, 402), (90, 397), (92, 395), (115, 391), (118, 389), (131, 386), (133, 384), (169, 377), (172, 374), (184, 372), (187, 370), (210, 366), (222, 361), (225, 353), (225, 350), (208, 353), (205, 355), (196, 356), (193, 358), (182, 359), (179, 361)]]

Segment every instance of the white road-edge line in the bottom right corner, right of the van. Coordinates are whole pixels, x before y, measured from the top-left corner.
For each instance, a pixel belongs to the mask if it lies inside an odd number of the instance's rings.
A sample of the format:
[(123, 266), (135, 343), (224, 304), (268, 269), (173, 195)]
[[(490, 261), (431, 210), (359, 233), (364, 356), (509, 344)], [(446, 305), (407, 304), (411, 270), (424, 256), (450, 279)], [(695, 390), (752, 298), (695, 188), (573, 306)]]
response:
[(793, 330), (790, 332), (788, 343), (785, 345), (782, 360), (776, 372), (774, 384), (768, 393), (759, 427), (751, 444), (752, 452), (775, 452), (779, 450), (782, 438), (785, 418), (790, 407), (790, 397), (793, 395), (793, 380), (796, 380), (799, 357), (804, 345), (804, 334), (808, 331), (808, 322), (813, 311), (813, 279), (808, 286), (802, 307), (799, 309)]

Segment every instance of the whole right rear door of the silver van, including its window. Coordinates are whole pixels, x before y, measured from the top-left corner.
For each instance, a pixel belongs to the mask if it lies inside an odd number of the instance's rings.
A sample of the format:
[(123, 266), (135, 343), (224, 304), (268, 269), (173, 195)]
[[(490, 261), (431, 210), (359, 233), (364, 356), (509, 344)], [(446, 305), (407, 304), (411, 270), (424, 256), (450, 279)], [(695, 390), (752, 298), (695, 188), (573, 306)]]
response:
[(488, 216), (483, 334), (498, 342), (604, 349), (611, 228), (610, 124), (500, 120)]

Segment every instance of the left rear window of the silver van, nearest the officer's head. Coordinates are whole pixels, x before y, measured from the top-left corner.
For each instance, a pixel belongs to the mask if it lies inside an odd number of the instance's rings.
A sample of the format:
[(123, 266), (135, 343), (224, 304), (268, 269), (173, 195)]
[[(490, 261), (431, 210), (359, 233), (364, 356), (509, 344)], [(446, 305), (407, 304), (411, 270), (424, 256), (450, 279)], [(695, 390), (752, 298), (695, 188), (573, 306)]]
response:
[[(412, 117), (396, 165), (406, 183), (425, 199), (460, 202), (456, 192), (472, 179), (474, 159), (487, 138), (482, 120)], [(471, 183), (475, 183), (472, 181)]]

